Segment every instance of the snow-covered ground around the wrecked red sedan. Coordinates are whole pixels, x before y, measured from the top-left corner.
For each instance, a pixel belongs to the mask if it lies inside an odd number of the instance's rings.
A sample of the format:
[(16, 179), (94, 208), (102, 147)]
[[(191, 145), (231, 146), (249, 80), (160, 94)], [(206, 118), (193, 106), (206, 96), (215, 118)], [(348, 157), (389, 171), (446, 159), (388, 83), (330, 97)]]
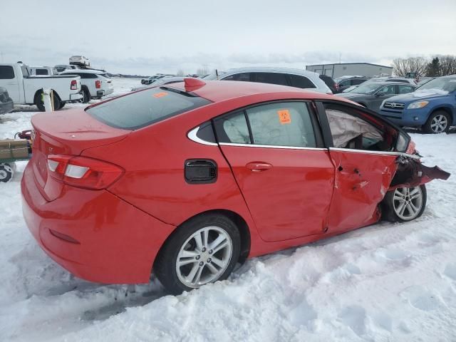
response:
[[(0, 116), (0, 138), (30, 128), (36, 109), (21, 110)], [(55, 264), (22, 218), (20, 162), (0, 185), (0, 341), (456, 341), (456, 134), (412, 136), (426, 165), (453, 174), (427, 186), (423, 217), (250, 259), (180, 296)]]

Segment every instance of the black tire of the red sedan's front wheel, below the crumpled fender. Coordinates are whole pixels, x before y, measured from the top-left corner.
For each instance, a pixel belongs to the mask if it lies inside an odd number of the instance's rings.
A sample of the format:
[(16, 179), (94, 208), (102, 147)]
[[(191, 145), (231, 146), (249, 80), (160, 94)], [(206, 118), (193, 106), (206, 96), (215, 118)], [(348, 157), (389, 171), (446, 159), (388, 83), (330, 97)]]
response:
[[(426, 201), (427, 201), (427, 192), (426, 192), (426, 187), (424, 184), (420, 185), (419, 187), (413, 187), (411, 189), (415, 189), (415, 188), (420, 189), (420, 192), (421, 192), (421, 202), (420, 202), (420, 208), (419, 208), (418, 212), (416, 212), (413, 215), (410, 215), (410, 217), (406, 217), (405, 212), (403, 212), (402, 215), (400, 213), (398, 213), (398, 209), (400, 209), (400, 207), (398, 208), (398, 206), (400, 206), (401, 200), (395, 199), (396, 190), (391, 190), (386, 193), (385, 198), (383, 199), (383, 202), (382, 202), (382, 218), (385, 219), (386, 221), (390, 221), (390, 222), (409, 222), (409, 221), (413, 221), (414, 219), (418, 219), (418, 217), (420, 217), (423, 214), (423, 212), (425, 211)], [(398, 191), (402, 192), (404, 189), (406, 189), (406, 188), (400, 188)], [(398, 195), (398, 194), (396, 193), (396, 195)], [(408, 197), (408, 200), (413, 201), (413, 199), (410, 199), (410, 197)], [(417, 203), (414, 202), (414, 206), (416, 204)], [(407, 209), (407, 208), (405, 208), (405, 209)], [(409, 209), (407, 209), (407, 211), (408, 211), (408, 214), (410, 214)]]

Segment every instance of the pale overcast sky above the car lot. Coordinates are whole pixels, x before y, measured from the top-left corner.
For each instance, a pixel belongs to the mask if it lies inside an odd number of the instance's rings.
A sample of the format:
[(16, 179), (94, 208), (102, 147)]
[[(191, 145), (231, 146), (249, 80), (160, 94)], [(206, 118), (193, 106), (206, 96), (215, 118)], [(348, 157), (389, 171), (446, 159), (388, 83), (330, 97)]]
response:
[[(86, 3), (85, 6), (82, 6)], [(1, 0), (0, 61), (90, 58), (111, 73), (456, 53), (456, 0)]]

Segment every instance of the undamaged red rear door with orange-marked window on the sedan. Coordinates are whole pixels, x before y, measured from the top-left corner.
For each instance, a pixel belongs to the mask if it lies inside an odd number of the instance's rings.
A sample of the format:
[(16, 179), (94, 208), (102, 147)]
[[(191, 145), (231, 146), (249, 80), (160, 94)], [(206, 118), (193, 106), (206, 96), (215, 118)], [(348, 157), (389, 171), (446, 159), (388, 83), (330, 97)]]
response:
[(215, 119), (214, 126), (262, 239), (326, 231), (334, 167), (309, 103), (255, 105)]

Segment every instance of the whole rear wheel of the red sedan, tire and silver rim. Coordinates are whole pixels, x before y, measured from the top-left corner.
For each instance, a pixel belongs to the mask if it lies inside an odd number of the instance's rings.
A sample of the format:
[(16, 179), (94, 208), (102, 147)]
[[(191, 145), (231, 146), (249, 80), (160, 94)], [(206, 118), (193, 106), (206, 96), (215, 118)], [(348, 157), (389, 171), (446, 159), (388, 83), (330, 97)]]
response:
[(204, 214), (178, 227), (160, 250), (154, 273), (172, 294), (227, 279), (239, 259), (236, 225), (220, 214)]

